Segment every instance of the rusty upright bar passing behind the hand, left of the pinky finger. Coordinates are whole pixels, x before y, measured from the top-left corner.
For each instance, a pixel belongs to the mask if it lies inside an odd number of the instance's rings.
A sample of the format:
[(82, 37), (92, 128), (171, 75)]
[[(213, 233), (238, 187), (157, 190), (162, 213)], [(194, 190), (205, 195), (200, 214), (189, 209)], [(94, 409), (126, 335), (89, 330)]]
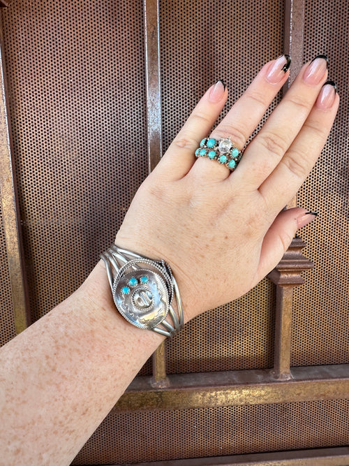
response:
[[(162, 155), (160, 36), (158, 0), (144, 0), (145, 79), (147, 92), (147, 147), (149, 172)], [(164, 385), (166, 379), (165, 342), (153, 355), (154, 384)]]

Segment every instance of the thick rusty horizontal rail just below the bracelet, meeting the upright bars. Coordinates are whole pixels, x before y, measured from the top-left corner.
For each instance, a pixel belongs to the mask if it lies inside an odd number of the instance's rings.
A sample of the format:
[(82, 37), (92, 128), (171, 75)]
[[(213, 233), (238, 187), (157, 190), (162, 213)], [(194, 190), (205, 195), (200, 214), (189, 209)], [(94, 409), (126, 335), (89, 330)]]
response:
[(124, 393), (116, 411), (189, 409), (263, 405), (349, 397), (349, 365), (294, 367), (292, 379), (278, 381), (268, 370), (169, 375), (169, 386), (151, 386), (138, 377)]

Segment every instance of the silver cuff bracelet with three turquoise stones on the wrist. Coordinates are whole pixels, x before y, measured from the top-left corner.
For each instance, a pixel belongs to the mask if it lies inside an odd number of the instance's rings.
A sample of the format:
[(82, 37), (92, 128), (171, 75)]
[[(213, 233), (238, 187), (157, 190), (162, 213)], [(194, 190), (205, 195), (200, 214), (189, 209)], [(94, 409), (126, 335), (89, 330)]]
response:
[[(117, 310), (138, 328), (172, 337), (184, 325), (183, 307), (170, 265), (112, 245), (101, 254)], [(177, 300), (178, 316), (172, 308)], [(170, 316), (171, 319), (167, 319)], [(169, 322), (171, 320), (171, 322)]]

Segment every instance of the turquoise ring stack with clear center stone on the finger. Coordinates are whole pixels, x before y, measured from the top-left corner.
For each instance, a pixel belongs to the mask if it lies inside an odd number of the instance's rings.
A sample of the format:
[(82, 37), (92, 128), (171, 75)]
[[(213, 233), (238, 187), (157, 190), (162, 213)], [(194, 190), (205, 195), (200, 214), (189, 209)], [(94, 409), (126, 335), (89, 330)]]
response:
[(204, 138), (195, 150), (195, 157), (207, 157), (234, 171), (242, 158), (242, 152), (230, 138)]

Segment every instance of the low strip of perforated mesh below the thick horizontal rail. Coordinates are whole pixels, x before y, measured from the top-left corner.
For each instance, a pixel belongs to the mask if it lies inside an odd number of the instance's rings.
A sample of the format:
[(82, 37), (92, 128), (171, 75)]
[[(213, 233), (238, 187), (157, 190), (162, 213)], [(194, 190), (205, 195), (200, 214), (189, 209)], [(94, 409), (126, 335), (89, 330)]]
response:
[[(349, 400), (110, 414), (74, 465), (223, 456), (349, 442)], [(316, 413), (316, 416), (314, 416)], [(105, 449), (103, 439), (112, 438)]]

